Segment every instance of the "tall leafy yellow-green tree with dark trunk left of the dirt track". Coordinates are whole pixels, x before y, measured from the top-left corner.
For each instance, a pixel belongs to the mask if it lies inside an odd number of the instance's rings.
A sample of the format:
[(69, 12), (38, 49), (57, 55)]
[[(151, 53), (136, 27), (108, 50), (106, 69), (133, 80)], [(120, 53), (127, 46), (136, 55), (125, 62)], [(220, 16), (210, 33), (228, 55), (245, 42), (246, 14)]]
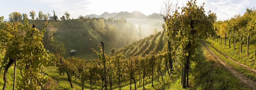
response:
[[(181, 8), (181, 13), (175, 10), (174, 14), (168, 15), (167, 39), (176, 41), (179, 51), (175, 53), (177, 60), (183, 63), (182, 87), (188, 87), (188, 71), (190, 60), (196, 54), (196, 49), (202, 39), (206, 39), (213, 33), (213, 21), (204, 14), (204, 6), (196, 5), (196, 0), (188, 1), (187, 6)], [(178, 34), (177, 34), (178, 33)], [(175, 37), (172, 37), (175, 35)]]

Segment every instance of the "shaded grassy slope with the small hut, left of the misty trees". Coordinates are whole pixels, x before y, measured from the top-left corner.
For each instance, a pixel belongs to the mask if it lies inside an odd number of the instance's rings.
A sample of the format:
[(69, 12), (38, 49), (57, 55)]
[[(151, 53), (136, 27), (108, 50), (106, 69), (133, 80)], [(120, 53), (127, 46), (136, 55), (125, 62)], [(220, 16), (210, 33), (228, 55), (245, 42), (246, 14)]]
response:
[[(32, 20), (29, 24), (36, 25), (37, 28), (43, 27), (44, 20)], [(105, 53), (109, 54), (110, 49), (115, 47), (109, 40), (102, 38), (97, 31), (93, 30), (87, 22), (82, 19), (74, 19), (67, 21), (49, 21), (49, 26), (46, 28), (44, 40), (53, 41), (54, 37), (50, 38), (54, 31), (55, 41), (63, 43), (67, 48), (65, 57), (71, 57), (69, 54), (71, 50), (76, 49), (76, 57), (93, 59), (97, 55), (91, 48), (99, 51), (99, 43), (104, 42)], [(91, 40), (90, 40), (91, 39)], [(47, 45), (49, 46), (49, 45)], [(115, 47), (120, 48), (120, 47)]]

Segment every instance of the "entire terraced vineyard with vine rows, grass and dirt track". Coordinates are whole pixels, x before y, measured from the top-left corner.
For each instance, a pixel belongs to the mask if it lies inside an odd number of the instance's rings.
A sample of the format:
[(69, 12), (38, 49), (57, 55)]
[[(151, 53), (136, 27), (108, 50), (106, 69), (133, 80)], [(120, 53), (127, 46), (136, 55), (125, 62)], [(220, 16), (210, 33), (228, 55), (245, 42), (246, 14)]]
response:
[[(256, 89), (256, 11), (216, 21), (188, 1), (165, 3), (163, 30), (95, 59), (65, 57), (60, 43), (44, 43), (49, 24), (3, 22), (0, 18), (0, 87), (3, 90), (226, 90)], [(75, 22), (75, 21), (74, 21)], [(42, 22), (40, 22), (42, 23)], [(46, 33), (47, 34), (47, 33)], [(104, 45), (105, 44), (105, 45)], [(239, 45), (240, 44), (240, 45)], [(108, 46), (108, 45), (107, 45)], [(47, 47), (47, 48), (46, 48)], [(48, 49), (50, 48), (51, 51)], [(244, 49), (246, 48), (246, 49)]]

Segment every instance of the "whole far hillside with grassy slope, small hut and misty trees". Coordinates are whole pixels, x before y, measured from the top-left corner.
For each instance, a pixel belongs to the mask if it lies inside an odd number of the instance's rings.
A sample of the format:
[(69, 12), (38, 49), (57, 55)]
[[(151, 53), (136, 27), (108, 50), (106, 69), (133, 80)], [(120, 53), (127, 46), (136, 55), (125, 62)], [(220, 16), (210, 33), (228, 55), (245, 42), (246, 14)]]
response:
[[(37, 28), (42, 28), (44, 20), (33, 20), (29, 23), (36, 25)], [(101, 30), (100, 26), (107, 27), (102, 27), (104, 30)], [(118, 30), (118, 32), (116, 30)], [(96, 58), (96, 54), (91, 49), (99, 50), (98, 46), (101, 41), (105, 43), (104, 48), (106, 54), (109, 54), (111, 48), (118, 49), (127, 44), (127, 42), (137, 40), (136, 32), (133, 32), (137, 31), (137, 29), (135, 26), (132, 26), (131, 23), (104, 23), (103, 21), (96, 23), (95, 20), (92, 19), (90, 19), (90, 21), (83, 19), (49, 21), (49, 26), (46, 31), (44, 41), (50, 40), (63, 43), (67, 49), (66, 57), (70, 57), (70, 51), (75, 49), (76, 57), (86, 59)], [(56, 34), (54, 37), (51, 37), (53, 32)], [(135, 36), (134, 38), (126, 38), (130, 35)], [(49, 43), (47, 43), (47, 46), (49, 46)]]

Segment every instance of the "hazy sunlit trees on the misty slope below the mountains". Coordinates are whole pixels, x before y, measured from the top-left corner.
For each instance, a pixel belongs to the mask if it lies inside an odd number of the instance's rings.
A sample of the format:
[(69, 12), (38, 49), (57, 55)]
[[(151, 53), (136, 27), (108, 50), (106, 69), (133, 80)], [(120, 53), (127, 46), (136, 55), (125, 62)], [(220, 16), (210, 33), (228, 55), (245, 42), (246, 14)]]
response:
[[(121, 19), (103, 19), (103, 18), (83, 18), (91, 29), (98, 32), (98, 34), (110, 41), (115, 47), (122, 47), (129, 42), (137, 41), (141, 38), (142, 34), (137, 31), (133, 23), (127, 22), (125, 18)], [(139, 29), (141, 31), (141, 29)]]

